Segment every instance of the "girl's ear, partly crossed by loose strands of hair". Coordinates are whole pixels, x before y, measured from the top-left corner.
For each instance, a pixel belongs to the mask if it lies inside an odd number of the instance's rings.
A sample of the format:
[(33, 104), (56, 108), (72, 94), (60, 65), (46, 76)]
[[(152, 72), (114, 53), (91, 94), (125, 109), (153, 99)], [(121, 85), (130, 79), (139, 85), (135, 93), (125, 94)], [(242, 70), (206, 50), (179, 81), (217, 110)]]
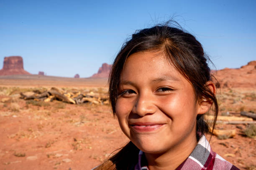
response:
[[(207, 81), (205, 85), (208, 86), (208, 88), (212, 91), (214, 95), (216, 94), (216, 87), (212, 81)], [(206, 99), (205, 97), (202, 97), (199, 102), (199, 108), (197, 110), (198, 115), (205, 114), (212, 106), (212, 101)]]

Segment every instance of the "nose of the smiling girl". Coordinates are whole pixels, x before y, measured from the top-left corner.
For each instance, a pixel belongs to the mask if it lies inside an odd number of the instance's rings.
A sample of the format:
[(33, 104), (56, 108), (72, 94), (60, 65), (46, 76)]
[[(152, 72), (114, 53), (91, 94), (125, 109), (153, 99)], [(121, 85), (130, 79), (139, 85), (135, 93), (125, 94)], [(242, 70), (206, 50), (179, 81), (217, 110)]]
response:
[(145, 116), (147, 114), (154, 114), (156, 110), (153, 97), (150, 95), (139, 95), (132, 112), (139, 116)]

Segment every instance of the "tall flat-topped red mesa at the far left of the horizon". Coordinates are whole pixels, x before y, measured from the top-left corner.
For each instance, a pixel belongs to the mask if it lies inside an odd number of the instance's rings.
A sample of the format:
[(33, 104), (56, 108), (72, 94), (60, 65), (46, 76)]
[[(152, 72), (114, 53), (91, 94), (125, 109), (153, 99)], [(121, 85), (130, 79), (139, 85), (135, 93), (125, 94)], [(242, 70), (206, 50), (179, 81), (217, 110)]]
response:
[(23, 59), (20, 56), (10, 56), (4, 58), (3, 68), (0, 75), (30, 75), (23, 69)]

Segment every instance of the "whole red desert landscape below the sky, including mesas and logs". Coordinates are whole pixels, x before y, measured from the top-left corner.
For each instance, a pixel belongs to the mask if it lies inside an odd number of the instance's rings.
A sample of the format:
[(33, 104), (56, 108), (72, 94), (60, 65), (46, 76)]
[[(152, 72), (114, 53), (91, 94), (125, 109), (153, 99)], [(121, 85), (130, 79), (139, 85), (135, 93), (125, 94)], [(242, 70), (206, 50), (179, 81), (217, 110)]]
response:
[[(90, 78), (67, 78), (31, 75), (19, 57), (6, 61), (1, 170), (90, 170), (128, 143), (108, 102), (111, 65)], [(256, 61), (212, 74), (220, 105), (214, 135), (207, 135), (212, 149), (241, 170), (256, 170)]]

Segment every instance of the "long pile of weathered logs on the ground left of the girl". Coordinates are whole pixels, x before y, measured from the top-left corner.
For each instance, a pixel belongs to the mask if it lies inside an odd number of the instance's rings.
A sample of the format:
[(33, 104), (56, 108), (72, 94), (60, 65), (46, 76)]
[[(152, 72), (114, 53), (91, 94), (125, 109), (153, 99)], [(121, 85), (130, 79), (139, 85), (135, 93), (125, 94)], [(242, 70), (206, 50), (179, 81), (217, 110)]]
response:
[(108, 105), (108, 95), (96, 92), (81, 92), (78, 90), (66, 92), (64, 90), (52, 87), (47, 91), (34, 90), (33, 92), (20, 92), (20, 98), (24, 100), (36, 100), (51, 102), (60, 100), (72, 104), (82, 104), (85, 102), (94, 103), (96, 105)]

